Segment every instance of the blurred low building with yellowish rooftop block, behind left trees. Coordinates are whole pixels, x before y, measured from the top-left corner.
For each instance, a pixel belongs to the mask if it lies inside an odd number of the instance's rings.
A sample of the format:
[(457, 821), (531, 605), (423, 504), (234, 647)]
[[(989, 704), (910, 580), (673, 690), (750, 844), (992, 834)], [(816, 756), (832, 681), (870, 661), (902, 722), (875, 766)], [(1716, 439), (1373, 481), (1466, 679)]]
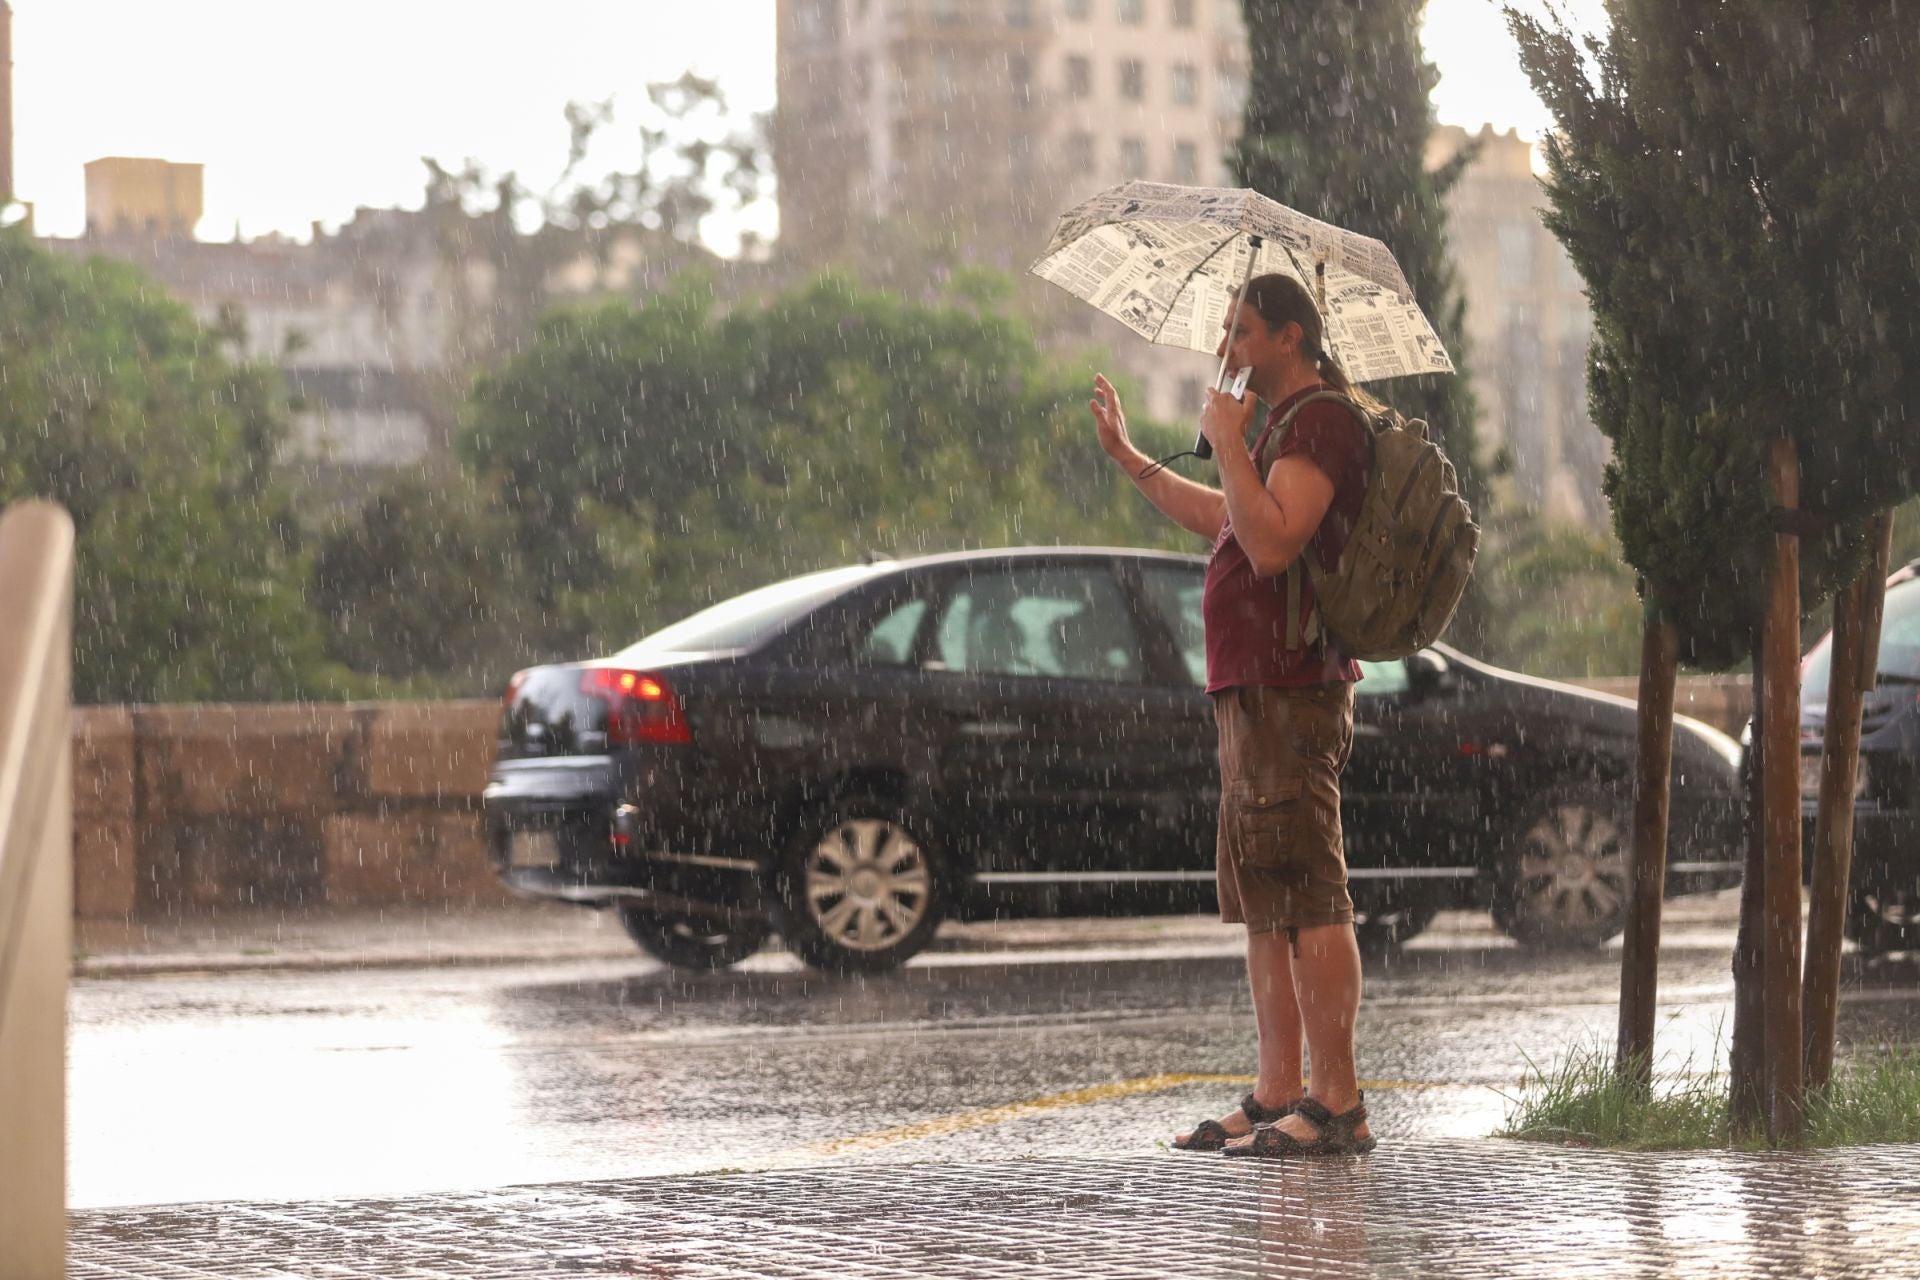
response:
[(338, 230), (315, 223), (307, 242), (194, 240), (200, 165), (150, 163), (88, 165), (86, 234), (40, 244), (132, 263), (240, 355), (278, 365), (296, 397), (282, 462), (323, 503), (444, 455), (472, 365), (515, 345), (545, 299), (649, 292), (695, 253), (609, 232), (595, 253), (540, 259), (509, 286), (524, 238), (451, 205), (363, 207)]

